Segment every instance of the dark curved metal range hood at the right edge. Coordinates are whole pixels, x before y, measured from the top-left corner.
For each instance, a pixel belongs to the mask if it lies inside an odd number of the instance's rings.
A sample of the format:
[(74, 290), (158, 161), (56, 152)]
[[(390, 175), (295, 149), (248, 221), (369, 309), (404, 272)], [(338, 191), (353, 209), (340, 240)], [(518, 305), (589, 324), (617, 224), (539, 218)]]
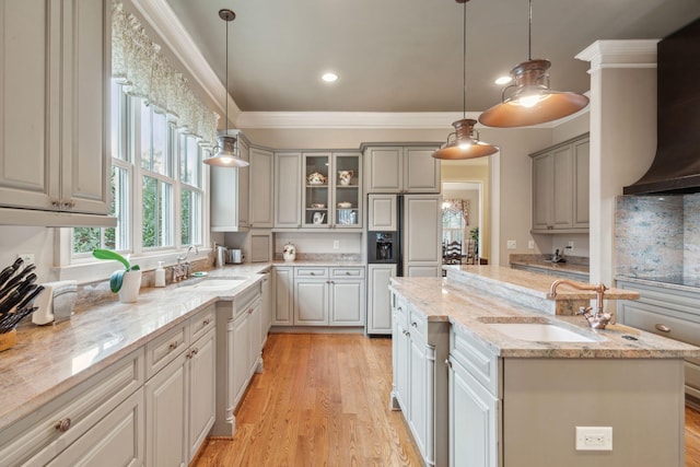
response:
[(657, 143), (625, 195), (700, 192), (700, 19), (657, 45)]

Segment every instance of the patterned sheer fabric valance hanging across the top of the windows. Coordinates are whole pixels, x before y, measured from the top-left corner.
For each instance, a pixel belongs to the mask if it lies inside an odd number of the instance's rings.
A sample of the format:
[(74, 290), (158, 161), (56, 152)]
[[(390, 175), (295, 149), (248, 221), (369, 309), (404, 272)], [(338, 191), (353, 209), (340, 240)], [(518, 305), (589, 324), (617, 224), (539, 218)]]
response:
[(121, 3), (114, 3), (112, 11), (112, 77), (128, 94), (165, 110), (178, 128), (201, 138), (203, 144), (215, 143), (219, 115), (195, 95)]

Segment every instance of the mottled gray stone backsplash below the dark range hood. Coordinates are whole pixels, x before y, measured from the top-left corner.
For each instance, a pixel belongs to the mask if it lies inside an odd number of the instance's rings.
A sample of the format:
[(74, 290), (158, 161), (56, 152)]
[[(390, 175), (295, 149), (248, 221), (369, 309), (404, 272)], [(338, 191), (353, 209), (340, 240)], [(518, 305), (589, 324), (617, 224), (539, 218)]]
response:
[(700, 278), (700, 194), (619, 196), (616, 275)]

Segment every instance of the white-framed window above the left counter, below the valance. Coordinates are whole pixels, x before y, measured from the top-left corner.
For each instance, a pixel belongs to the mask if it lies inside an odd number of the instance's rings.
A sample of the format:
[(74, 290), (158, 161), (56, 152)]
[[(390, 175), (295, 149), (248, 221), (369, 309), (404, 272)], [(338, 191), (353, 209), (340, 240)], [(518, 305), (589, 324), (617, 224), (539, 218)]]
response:
[(199, 139), (113, 80), (110, 149), (117, 226), (73, 229), (73, 258), (90, 257), (94, 248), (148, 255), (202, 245), (206, 154)]

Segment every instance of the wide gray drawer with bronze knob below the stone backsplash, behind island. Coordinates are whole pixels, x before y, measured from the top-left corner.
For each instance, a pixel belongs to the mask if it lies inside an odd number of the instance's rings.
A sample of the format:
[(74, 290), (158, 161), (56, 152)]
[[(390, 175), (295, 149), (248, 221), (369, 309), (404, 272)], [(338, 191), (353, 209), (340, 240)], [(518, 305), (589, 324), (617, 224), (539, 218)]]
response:
[(666, 311), (646, 303), (625, 302), (620, 303), (619, 306), (620, 319), (627, 326), (669, 339), (680, 340), (692, 346), (700, 346), (700, 323), (681, 319), (677, 317), (677, 312), (675, 313), (676, 316), (669, 316), (669, 314), (674, 314), (674, 311)]

